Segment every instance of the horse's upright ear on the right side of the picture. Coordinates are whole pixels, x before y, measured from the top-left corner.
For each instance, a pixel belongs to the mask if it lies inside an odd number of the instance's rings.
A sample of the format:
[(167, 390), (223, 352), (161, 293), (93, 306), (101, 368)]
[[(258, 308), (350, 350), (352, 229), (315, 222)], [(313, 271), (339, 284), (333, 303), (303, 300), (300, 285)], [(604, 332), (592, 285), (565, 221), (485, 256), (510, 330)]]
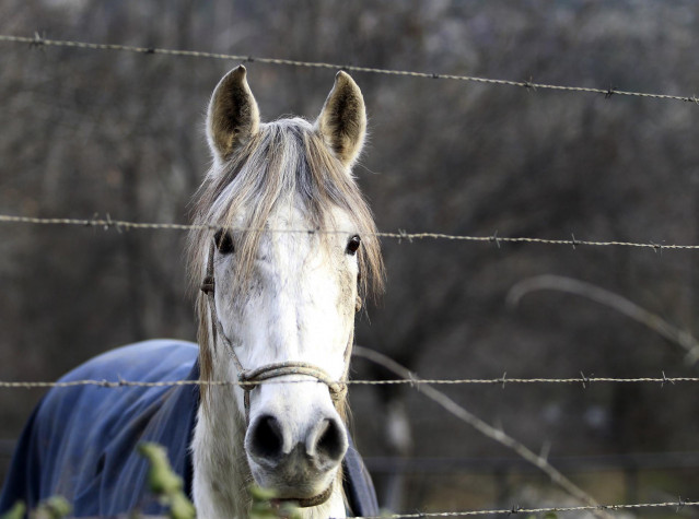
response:
[(346, 72), (338, 72), (335, 86), (315, 122), (316, 131), (345, 166), (351, 166), (364, 145), (366, 109), (362, 92)]

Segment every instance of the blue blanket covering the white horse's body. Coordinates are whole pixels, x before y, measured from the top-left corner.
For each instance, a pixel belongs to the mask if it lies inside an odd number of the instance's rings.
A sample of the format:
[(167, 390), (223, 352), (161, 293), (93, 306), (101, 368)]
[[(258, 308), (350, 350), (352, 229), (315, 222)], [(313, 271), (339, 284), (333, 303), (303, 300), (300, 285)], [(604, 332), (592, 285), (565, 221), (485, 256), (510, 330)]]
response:
[[(198, 380), (198, 346), (159, 340), (100, 355), (70, 371), (71, 380)], [(136, 447), (155, 441), (166, 447), (173, 470), (190, 492), (191, 444), (199, 386), (78, 386), (50, 390), (20, 437), (0, 495), (0, 515), (18, 500), (28, 509), (60, 495), (74, 516), (115, 516), (133, 509), (162, 514), (147, 488), (148, 463)], [(350, 515), (377, 516), (369, 473), (352, 445), (345, 464)], [(191, 497), (191, 496), (190, 496)]]

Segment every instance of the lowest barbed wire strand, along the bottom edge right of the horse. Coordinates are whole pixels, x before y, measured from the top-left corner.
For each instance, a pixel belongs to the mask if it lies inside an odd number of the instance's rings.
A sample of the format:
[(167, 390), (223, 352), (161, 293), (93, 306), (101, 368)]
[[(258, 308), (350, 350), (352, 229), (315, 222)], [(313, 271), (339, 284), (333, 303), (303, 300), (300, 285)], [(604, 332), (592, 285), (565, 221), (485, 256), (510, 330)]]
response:
[(557, 506), (548, 508), (522, 508), (513, 506), (510, 509), (499, 510), (463, 510), (463, 511), (423, 511), (415, 514), (386, 514), (383, 516), (356, 516), (352, 519), (420, 519), (424, 517), (463, 517), (463, 516), (512, 516), (515, 514), (546, 514), (570, 511), (597, 511), (597, 510), (638, 510), (641, 508), (675, 508), (678, 512), (684, 507), (699, 506), (699, 502), (679, 499), (675, 503), (637, 503), (631, 505), (585, 505), (585, 506)]

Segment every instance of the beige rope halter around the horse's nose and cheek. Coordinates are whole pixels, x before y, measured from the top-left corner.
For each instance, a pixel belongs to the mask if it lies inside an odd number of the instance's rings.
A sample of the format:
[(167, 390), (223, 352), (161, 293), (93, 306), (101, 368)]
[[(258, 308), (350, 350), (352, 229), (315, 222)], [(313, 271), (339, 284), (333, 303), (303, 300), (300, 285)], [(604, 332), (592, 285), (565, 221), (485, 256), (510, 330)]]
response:
[[(294, 362), (288, 361), (283, 363), (273, 363), (267, 364), (265, 366), (258, 367), (256, 369), (245, 369), (241, 359), (237, 357), (235, 353), (235, 349), (231, 343), (231, 340), (228, 338), (225, 332), (223, 331), (223, 326), (219, 320), (217, 310), (215, 310), (215, 279), (213, 275), (213, 255), (215, 251), (215, 244), (211, 244), (211, 248), (209, 249), (209, 259), (207, 262), (207, 274), (203, 278), (203, 282), (201, 283), (201, 292), (203, 292), (209, 299), (209, 311), (211, 312), (211, 331), (213, 343), (217, 343), (217, 338), (220, 337), (223, 343), (228, 346), (229, 353), (231, 355), (231, 359), (237, 369), (237, 378), (241, 385), (241, 388), (244, 391), (244, 406), (245, 406), (245, 423), (249, 423), (249, 412), (251, 412), (251, 391), (255, 389), (256, 386), (259, 386), (265, 380), (269, 380), (271, 378), (277, 377), (287, 377), (290, 375), (302, 375), (307, 377), (313, 377), (317, 379), (319, 382), (325, 384), (330, 391), (330, 398), (333, 402), (337, 405), (338, 402), (342, 401), (345, 396), (347, 394), (347, 384), (338, 382), (330, 377), (330, 375), (324, 369), (314, 366), (313, 364), (305, 362)], [(350, 353), (350, 347), (348, 347), (345, 352), (345, 371), (347, 374), (348, 366), (348, 357)], [(345, 377), (342, 377), (345, 378)]]

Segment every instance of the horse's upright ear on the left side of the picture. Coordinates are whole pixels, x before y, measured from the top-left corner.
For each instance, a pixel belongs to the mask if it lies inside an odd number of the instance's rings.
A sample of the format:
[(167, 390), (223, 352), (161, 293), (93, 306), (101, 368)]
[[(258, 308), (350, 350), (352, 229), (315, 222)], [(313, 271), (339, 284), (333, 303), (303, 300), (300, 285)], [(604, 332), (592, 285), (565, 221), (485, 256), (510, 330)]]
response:
[(245, 144), (259, 129), (259, 109), (245, 79), (242, 64), (219, 82), (207, 114), (207, 138), (211, 152), (219, 160)]

